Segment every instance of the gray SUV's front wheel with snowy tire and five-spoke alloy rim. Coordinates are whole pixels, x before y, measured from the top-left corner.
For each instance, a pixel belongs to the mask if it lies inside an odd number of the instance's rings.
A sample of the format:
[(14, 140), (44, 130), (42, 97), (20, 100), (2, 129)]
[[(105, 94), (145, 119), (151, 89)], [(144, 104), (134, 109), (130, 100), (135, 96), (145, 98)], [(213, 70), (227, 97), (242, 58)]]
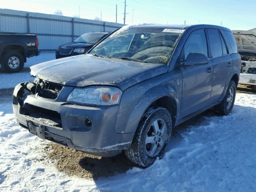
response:
[(162, 158), (169, 145), (172, 134), (172, 118), (168, 110), (162, 107), (149, 108), (135, 133), (126, 157), (142, 167), (154, 163), (156, 157)]

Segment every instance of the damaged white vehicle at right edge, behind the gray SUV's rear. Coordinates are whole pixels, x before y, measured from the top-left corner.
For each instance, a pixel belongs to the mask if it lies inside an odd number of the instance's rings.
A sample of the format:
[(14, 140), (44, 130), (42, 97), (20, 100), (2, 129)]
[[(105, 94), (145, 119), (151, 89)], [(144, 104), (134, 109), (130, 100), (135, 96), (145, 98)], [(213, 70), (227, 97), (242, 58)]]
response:
[(233, 30), (238, 52), (242, 57), (240, 84), (252, 85), (256, 92), (256, 33)]

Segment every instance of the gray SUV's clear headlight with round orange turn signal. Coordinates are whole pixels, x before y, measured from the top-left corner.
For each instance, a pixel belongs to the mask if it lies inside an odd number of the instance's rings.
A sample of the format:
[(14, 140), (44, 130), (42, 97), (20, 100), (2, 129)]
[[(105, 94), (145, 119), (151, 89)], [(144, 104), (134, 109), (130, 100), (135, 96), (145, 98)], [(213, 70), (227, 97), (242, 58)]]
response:
[(119, 103), (121, 94), (121, 90), (114, 87), (74, 88), (68, 96), (67, 102), (89, 105), (114, 105)]

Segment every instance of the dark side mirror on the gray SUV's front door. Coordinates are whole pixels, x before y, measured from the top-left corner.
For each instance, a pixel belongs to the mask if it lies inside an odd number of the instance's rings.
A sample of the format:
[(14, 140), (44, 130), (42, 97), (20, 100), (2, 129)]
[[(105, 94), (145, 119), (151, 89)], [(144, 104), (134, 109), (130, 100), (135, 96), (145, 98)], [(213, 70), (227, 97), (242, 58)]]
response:
[(208, 58), (201, 53), (190, 53), (188, 54), (184, 66), (196, 66), (208, 64)]

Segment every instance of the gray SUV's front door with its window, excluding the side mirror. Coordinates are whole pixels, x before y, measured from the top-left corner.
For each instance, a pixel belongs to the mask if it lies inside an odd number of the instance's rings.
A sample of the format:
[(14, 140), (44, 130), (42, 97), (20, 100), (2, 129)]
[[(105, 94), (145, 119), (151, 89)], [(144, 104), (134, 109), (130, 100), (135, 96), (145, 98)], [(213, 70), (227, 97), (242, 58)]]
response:
[[(201, 53), (208, 57), (206, 33), (204, 29), (193, 31), (181, 53), (186, 60), (189, 53)], [(212, 91), (212, 64), (185, 66), (182, 71), (182, 106), (181, 118), (188, 116), (204, 107), (210, 101)]]

